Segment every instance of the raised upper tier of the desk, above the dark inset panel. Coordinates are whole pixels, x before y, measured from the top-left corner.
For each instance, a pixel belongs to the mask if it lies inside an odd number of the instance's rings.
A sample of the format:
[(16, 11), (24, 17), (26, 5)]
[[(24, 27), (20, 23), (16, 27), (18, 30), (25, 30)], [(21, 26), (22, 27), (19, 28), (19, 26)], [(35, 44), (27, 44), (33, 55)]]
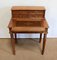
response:
[(13, 6), (11, 10), (14, 21), (42, 21), (45, 18), (43, 6)]

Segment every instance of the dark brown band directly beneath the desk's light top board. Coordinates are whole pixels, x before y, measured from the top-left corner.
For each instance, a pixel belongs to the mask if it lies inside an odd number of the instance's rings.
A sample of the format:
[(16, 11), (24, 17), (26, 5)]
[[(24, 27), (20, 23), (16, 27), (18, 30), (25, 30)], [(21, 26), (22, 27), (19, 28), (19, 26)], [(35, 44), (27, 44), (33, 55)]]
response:
[(44, 10), (14, 10), (12, 11), (12, 14), (43, 14), (44, 13)]

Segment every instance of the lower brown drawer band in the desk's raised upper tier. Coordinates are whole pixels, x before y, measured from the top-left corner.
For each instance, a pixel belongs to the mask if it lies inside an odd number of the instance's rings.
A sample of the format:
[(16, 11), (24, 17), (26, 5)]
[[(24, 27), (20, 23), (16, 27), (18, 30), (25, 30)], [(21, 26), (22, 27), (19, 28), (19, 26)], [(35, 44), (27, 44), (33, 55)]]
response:
[(19, 14), (13, 15), (13, 18), (43, 18), (43, 14)]

